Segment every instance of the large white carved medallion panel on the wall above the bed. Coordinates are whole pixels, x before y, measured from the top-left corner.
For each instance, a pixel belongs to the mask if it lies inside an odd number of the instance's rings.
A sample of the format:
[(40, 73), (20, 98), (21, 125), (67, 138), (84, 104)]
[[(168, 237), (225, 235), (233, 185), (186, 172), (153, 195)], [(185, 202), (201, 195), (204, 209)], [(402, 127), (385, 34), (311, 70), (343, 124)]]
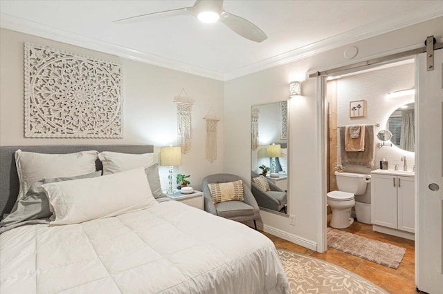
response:
[(25, 137), (122, 138), (120, 64), (25, 43)]

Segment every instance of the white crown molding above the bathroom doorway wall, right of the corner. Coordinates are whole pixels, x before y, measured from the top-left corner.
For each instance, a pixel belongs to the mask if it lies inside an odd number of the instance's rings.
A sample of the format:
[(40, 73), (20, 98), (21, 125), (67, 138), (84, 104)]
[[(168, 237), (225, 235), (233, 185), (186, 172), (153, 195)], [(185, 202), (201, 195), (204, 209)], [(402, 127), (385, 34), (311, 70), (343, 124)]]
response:
[(371, 23), (369, 26), (355, 28), (343, 34), (323, 39), (316, 43), (311, 43), (307, 46), (291, 50), (289, 52), (271, 57), (269, 59), (264, 59), (257, 63), (253, 63), (250, 66), (239, 68), (238, 70), (233, 70), (224, 75), (224, 80), (229, 81), (230, 79), (236, 79), (237, 77), (249, 75), (253, 72), (259, 72), (267, 68), (281, 66), (283, 64), (304, 59), (312, 55), (317, 55), (322, 52), (350, 45), (357, 41), (376, 37), (387, 32), (406, 28), (408, 26), (413, 26), (417, 23), (422, 23), (424, 21), (435, 19), (437, 17), (442, 17), (443, 6), (441, 2), (438, 2), (440, 1), (435, 1), (434, 3), (429, 4), (428, 6), (426, 6), (426, 9), (423, 9), (421, 11), (404, 13), (399, 15), (399, 17), (396, 17), (395, 19), (386, 19), (386, 21), (383, 21), (381, 23)]

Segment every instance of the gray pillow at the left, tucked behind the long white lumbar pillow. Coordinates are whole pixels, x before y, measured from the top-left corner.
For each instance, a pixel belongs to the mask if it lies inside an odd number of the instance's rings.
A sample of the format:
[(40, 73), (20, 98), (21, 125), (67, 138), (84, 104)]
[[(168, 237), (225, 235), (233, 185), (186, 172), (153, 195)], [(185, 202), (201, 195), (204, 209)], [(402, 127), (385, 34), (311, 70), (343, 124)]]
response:
[(19, 222), (25, 222), (32, 219), (44, 219), (51, 217), (48, 198), (42, 188), (43, 184), (69, 181), (71, 179), (87, 179), (91, 177), (100, 177), (101, 171), (78, 175), (75, 177), (57, 177), (54, 179), (42, 179), (30, 186), (25, 197), (17, 202), (12, 208), (11, 213), (3, 217), (0, 226), (11, 226)]

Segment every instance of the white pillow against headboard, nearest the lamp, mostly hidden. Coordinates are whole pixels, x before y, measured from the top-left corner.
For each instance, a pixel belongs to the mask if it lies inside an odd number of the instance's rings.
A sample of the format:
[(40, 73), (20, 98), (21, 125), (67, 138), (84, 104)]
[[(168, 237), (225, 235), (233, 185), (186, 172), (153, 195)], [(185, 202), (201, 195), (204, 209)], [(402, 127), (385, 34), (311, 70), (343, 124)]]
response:
[(98, 155), (103, 164), (103, 175), (120, 173), (125, 170), (132, 170), (143, 166), (147, 168), (157, 163), (155, 153), (129, 154), (105, 151)]

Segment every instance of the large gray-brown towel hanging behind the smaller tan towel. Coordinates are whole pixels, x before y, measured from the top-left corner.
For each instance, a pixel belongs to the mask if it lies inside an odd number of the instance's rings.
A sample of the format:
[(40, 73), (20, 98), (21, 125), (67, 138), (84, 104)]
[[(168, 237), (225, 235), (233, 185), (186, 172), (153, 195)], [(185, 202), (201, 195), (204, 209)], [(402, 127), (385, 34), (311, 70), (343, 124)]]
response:
[[(363, 130), (363, 128), (361, 128)], [(340, 157), (342, 164), (353, 164), (357, 166), (374, 167), (374, 126), (364, 126), (365, 130), (365, 150), (361, 152), (346, 152), (345, 133), (346, 127), (340, 127)], [(363, 134), (360, 135), (360, 137)]]

